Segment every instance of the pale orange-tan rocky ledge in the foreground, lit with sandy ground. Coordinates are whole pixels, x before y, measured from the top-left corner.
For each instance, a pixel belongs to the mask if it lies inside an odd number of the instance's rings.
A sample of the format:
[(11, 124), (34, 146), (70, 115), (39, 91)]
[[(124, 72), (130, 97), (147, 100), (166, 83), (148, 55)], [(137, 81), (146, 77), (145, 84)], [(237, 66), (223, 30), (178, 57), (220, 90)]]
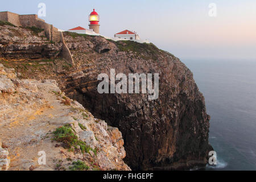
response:
[[(55, 80), (20, 80), (2, 64), (0, 71), (0, 141), (8, 148), (0, 142), (1, 170), (77, 169), (72, 161), (78, 160), (88, 170), (130, 170), (120, 131), (66, 97)], [(64, 126), (82, 145), (54, 140), (53, 131)], [(38, 162), (42, 151), (45, 164)]]

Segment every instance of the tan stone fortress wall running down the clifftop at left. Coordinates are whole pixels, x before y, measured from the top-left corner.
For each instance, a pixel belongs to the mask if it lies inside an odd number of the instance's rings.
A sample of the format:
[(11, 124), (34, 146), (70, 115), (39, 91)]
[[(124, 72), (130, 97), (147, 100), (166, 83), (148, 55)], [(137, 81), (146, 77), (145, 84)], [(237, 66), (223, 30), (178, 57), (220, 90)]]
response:
[(63, 33), (58, 31), (56, 27), (53, 27), (52, 24), (46, 23), (43, 19), (38, 18), (38, 15), (19, 15), (16, 13), (11, 13), (9, 11), (0, 12), (0, 20), (5, 22), (10, 22), (17, 27), (38, 27), (43, 28), (46, 34), (46, 37), (53, 42), (63, 42), (63, 50), (61, 56), (64, 59), (73, 64), (72, 55), (67, 48), (67, 45), (63, 39)]

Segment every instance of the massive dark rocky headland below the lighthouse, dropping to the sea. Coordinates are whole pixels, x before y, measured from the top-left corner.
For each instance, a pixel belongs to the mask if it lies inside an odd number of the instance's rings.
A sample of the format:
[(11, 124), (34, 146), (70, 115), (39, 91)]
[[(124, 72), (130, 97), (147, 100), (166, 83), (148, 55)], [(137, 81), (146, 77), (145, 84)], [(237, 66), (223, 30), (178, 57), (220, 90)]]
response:
[[(209, 115), (191, 71), (179, 59), (152, 44), (112, 42), (71, 33), (65, 33), (64, 40), (74, 67), (63, 66), (65, 61), (54, 57), (47, 64), (24, 60), (26, 68), (16, 61), (2, 63), (14, 67), (20, 77), (55, 79), (69, 97), (97, 118), (118, 127), (125, 140), (125, 162), (132, 169), (183, 169), (207, 163), (211, 149)], [(5, 55), (2, 51), (2, 57)], [(9, 53), (9, 59), (12, 56), (15, 53)], [(23, 56), (29, 57), (26, 51)], [(148, 100), (148, 94), (99, 94), (97, 76), (110, 76), (110, 69), (126, 75), (159, 73), (159, 98)]]

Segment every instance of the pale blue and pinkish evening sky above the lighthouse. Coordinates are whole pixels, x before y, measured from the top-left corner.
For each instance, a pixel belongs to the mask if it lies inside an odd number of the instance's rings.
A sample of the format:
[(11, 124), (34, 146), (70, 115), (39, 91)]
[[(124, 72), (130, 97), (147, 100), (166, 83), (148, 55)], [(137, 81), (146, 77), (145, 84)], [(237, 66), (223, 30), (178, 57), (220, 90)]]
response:
[[(182, 59), (250, 59), (256, 61), (255, 0), (9, 0), (1, 1), (0, 11), (38, 14), (62, 30), (88, 28), (88, 15), (100, 15), (100, 34), (113, 37), (123, 30), (136, 31)], [(210, 3), (216, 5), (216, 16)]]

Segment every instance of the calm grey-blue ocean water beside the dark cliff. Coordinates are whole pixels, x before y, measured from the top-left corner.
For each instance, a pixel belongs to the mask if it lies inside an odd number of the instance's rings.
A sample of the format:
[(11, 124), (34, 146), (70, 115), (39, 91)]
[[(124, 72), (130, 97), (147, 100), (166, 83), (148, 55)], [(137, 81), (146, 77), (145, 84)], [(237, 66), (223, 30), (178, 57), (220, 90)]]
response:
[(182, 60), (193, 72), (210, 115), (217, 166), (256, 170), (256, 60)]

